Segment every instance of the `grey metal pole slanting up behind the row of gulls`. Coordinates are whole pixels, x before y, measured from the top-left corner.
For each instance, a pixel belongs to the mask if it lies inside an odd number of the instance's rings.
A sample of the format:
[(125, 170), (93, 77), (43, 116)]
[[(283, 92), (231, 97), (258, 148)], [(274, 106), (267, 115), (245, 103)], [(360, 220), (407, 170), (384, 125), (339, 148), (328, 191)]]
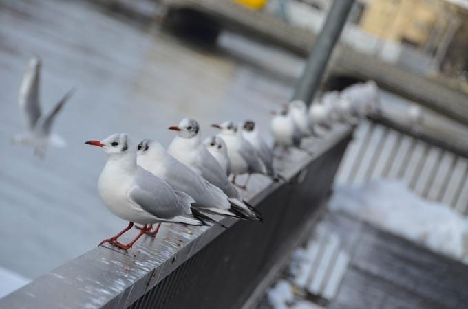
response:
[(353, 3), (354, 0), (333, 1), (332, 8), (330, 8), (325, 24), (319, 36), (317, 36), (307, 60), (306, 68), (295, 89), (292, 97), (294, 100), (303, 100), (308, 105), (312, 102), (315, 91), (319, 88), (330, 54), (332, 54), (333, 47), (339, 39)]

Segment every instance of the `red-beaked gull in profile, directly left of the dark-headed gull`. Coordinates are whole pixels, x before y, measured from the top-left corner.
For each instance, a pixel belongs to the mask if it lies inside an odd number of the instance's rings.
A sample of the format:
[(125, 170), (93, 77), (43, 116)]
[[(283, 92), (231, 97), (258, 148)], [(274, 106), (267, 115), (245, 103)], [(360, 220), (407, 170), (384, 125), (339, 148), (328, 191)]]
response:
[(235, 184), (235, 177), (240, 174), (248, 174), (246, 183), (241, 186), (246, 190), (251, 174), (258, 173), (266, 175), (266, 167), (260, 159), (257, 150), (242, 136), (242, 130), (231, 121), (222, 124), (212, 124), (213, 128), (220, 129), (218, 137), (226, 143), (228, 158), (233, 176), (232, 183)]

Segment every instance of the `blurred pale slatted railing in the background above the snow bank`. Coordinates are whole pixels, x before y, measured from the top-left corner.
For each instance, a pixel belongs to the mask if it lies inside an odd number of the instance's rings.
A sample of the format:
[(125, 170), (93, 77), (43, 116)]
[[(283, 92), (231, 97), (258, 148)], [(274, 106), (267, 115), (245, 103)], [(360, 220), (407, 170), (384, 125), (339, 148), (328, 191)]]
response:
[(349, 184), (401, 179), (421, 197), (468, 215), (468, 142), (457, 133), (370, 115), (357, 128), (337, 177)]

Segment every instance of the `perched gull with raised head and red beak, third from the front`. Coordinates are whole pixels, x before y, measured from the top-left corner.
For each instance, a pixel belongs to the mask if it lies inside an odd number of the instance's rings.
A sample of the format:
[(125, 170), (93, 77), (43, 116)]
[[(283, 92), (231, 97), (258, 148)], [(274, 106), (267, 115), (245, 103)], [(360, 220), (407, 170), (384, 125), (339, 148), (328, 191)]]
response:
[(244, 216), (246, 219), (262, 221), (257, 211), (242, 200), (220, 163), (202, 144), (198, 122), (184, 118), (178, 126), (171, 126), (169, 130), (177, 132), (177, 136), (167, 148), (170, 155), (189, 166), (212, 185), (219, 187), (228, 198), (231, 198), (230, 201), (233, 202), (233, 206), (239, 212), (238, 215)]

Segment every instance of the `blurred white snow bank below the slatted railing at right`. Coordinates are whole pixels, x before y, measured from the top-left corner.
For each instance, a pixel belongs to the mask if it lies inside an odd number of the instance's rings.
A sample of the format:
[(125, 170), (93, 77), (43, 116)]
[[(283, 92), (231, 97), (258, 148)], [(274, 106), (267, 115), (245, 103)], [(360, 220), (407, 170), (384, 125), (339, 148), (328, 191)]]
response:
[(423, 200), (401, 181), (337, 185), (329, 207), (468, 264), (468, 220), (445, 205)]

